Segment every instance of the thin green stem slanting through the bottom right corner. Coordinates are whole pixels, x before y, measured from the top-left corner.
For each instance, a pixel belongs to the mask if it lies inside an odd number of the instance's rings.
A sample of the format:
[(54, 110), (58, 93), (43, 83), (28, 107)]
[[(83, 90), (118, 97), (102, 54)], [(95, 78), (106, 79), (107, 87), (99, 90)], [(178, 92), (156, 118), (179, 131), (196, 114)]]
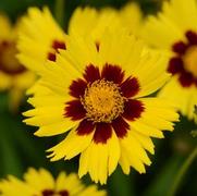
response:
[(186, 173), (186, 171), (188, 170), (189, 166), (192, 164), (192, 162), (195, 160), (196, 157), (197, 157), (197, 147), (194, 148), (192, 154), (188, 156), (188, 158), (183, 163), (177, 175), (175, 176), (174, 183), (172, 184), (168, 196), (175, 196), (176, 191), (178, 188), (178, 185), (181, 184), (181, 181), (182, 181), (184, 174)]

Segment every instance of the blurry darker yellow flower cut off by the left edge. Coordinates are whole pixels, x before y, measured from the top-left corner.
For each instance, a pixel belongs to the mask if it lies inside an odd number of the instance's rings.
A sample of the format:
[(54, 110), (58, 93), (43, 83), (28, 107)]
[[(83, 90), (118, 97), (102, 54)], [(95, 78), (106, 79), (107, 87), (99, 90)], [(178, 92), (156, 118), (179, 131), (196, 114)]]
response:
[(9, 91), (11, 110), (17, 109), (24, 90), (35, 81), (35, 75), (15, 57), (19, 24), (12, 26), (5, 15), (0, 15), (0, 91)]

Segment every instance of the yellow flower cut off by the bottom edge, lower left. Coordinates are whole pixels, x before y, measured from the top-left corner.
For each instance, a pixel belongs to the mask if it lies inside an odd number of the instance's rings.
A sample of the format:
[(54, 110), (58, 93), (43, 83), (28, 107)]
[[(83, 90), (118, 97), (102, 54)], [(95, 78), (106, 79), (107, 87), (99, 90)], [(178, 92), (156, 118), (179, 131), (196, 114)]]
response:
[(45, 169), (33, 168), (24, 174), (24, 180), (13, 175), (0, 181), (0, 194), (3, 196), (104, 196), (96, 185), (85, 186), (74, 173), (61, 172), (53, 179)]

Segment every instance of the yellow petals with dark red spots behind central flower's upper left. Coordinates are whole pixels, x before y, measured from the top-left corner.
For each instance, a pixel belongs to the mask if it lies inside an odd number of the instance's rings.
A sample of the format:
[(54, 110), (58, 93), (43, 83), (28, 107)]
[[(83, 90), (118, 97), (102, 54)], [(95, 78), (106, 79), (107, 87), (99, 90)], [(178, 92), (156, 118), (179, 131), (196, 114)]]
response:
[(47, 60), (56, 61), (59, 49), (66, 49), (66, 35), (48, 8), (29, 8), (21, 23), (17, 58), (30, 70), (45, 69)]

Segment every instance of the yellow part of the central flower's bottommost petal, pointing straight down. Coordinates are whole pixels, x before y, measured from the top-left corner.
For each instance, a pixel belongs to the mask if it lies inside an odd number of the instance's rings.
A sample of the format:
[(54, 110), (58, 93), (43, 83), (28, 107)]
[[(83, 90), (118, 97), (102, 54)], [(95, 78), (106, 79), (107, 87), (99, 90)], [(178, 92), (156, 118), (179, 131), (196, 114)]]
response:
[(119, 158), (119, 139), (113, 132), (106, 144), (91, 142), (88, 148), (82, 152), (78, 175), (82, 177), (89, 172), (96, 183), (106, 184), (108, 175), (115, 170)]

